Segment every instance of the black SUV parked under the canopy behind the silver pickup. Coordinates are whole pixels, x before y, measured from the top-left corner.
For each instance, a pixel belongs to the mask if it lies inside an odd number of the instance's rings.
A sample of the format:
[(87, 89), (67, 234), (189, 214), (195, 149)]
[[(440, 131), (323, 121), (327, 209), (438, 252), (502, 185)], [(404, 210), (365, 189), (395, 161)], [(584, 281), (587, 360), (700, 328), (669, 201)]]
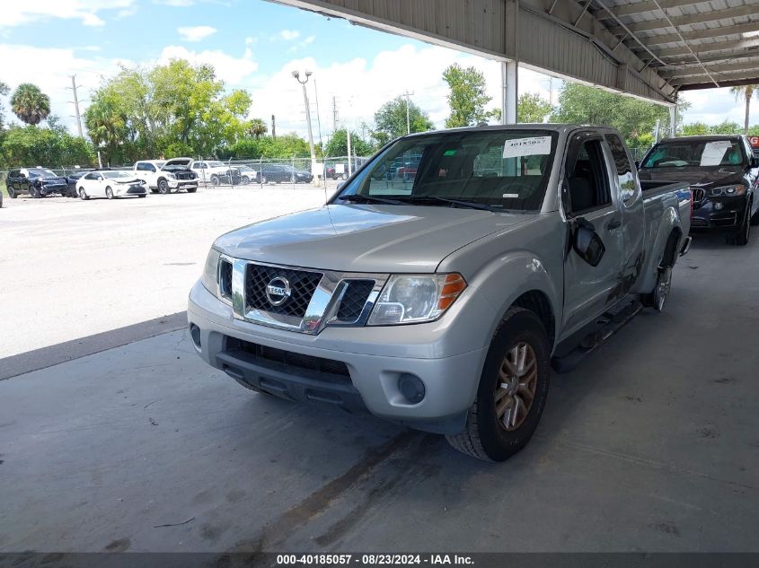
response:
[(728, 244), (746, 245), (759, 224), (759, 157), (744, 135), (668, 138), (649, 150), (639, 175), (690, 184), (692, 230), (724, 232)]

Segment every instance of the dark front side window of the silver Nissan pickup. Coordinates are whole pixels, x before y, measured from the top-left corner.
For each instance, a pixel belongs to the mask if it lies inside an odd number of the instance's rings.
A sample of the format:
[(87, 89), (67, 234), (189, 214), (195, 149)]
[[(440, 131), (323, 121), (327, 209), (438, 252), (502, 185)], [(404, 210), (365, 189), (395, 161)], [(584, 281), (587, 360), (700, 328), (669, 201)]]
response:
[(568, 164), (567, 177), (570, 214), (583, 214), (612, 204), (600, 140), (587, 140), (580, 144), (576, 158)]

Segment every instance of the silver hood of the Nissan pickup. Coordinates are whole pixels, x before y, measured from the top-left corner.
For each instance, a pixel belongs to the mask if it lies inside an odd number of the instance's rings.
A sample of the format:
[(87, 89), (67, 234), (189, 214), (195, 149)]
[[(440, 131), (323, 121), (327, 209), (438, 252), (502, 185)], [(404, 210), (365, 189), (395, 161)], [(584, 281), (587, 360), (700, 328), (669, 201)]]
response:
[(342, 272), (431, 273), (474, 240), (533, 215), (417, 205), (325, 205), (228, 232), (234, 258)]

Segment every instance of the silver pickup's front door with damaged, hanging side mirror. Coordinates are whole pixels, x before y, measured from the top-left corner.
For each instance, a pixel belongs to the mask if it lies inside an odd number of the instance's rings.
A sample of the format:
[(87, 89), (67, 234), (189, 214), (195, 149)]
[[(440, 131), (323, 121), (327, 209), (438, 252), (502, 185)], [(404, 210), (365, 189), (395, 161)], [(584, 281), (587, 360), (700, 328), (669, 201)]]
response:
[[(569, 143), (561, 190), (569, 239), (564, 261), (563, 337), (603, 314), (622, 294), (622, 211), (607, 155), (605, 141), (596, 133), (574, 135)], [(604, 244), (604, 256), (596, 267), (572, 248), (578, 223), (590, 223)]]

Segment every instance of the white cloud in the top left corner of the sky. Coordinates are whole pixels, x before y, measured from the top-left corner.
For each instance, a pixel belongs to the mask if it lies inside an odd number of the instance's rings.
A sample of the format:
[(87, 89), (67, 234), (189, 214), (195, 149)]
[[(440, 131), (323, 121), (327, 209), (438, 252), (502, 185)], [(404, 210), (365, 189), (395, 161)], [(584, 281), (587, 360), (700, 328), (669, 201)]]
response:
[(135, 0), (25, 0), (4, 2), (0, 28), (62, 18), (79, 20), (86, 26), (101, 26), (105, 22), (97, 15), (103, 10), (133, 9)]

